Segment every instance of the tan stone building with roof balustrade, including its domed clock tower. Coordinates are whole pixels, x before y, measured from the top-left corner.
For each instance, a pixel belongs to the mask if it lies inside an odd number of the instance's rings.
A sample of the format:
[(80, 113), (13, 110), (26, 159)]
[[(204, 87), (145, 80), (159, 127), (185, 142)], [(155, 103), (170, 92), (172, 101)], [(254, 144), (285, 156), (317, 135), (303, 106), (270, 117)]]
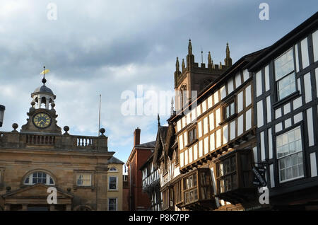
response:
[[(42, 82), (20, 132), (17, 124), (12, 132), (0, 132), (0, 210), (107, 210), (114, 152), (108, 151), (105, 129), (90, 137), (71, 135), (65, 126), (62, 134), (56, 96)], [(57, 190), (54, 204), (48, 204), (48, 188)]]

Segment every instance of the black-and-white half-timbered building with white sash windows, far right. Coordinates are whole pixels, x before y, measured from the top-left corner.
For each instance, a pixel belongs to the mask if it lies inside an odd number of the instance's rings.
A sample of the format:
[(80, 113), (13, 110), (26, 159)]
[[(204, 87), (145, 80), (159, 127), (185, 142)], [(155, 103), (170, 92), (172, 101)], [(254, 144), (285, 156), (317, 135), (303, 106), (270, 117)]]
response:
[(254, 158), (266, 165), (274, 209), (318, 207), (318, 13), (249, 64)]

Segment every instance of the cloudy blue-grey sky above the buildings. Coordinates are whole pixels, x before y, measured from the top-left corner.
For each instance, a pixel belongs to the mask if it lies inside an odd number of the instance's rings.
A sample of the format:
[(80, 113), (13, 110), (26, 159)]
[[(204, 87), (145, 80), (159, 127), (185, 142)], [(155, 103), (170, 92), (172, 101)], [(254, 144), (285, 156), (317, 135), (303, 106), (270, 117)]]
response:
[[(259, 19), (261, 3), (269, 5), (269, 20)], [(123, 113), (123, 96), (134, 94), (146, 108), (147, 93), (157, 93), (163, 99), (158, 110), (167, 109), (160, 122), (167, 125), (176, 57), (181, 64), (189, 38), (196, 62), (202, 50), (205, 63), (211, 51), (213, 62), (224, 64), (228, 42), (234, 64), (272, 45), (317, 8), (313, 0), (0, 0), (0, 104), (6, 106), (0, 130), (26, 123), (30, 94), (42, 85), (45, 65), (46, 86), (57, 96), (57, 125), (69, 126), (70, 134), (97, 136), (101, 94), (109, 151), (126, 162), (134, 129), (141, 129), (141, 143), (151, 142), (158, 121), (157, 112)]]

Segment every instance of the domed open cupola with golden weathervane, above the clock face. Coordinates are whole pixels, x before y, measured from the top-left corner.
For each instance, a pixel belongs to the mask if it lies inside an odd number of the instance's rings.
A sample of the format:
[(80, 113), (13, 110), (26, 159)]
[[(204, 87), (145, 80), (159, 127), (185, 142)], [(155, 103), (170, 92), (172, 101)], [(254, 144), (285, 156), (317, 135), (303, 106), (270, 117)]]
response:
[(31, 94), (33, 102), (37, 103), (36, 108), (41, 108), (42, 104), (45, 104), (45, 109), (49, 109), (49, 103), (54, 103), (54, 99), (57, 97), (54, 95), (53, 91), (45, 86), (47, 80), (45, 79), (45, 74), (43, 74), (42, 83), (43, 85), (36, 88)]

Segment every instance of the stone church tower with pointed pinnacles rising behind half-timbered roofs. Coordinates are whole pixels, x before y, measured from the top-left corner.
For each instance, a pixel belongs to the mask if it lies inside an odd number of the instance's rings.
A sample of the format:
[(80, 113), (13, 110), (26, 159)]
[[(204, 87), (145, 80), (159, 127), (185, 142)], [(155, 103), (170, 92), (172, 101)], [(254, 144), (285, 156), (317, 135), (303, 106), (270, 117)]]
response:
[(194, 62), (194, 55), (192, 54), (192, 43), (189, 40), (188, 54), (187, 54), (187, 67), (182, 59), (182, 69), (179, 69), (179, 59), (177, 58), (175, 70), (175, 108), (178, 112), (182, 106), (187, 104), (192, 98), (196, 98), (204, 87), (215, 81), (223, 72), (232, 66), (232, 59), (230, 58), (230, 48), (228, 43), (226, 45), (226, 57), (224, 65), (213, 64), (211, 52), (208, 52), (208, 66), (203, 62), (199, 67), (199, 63)]

